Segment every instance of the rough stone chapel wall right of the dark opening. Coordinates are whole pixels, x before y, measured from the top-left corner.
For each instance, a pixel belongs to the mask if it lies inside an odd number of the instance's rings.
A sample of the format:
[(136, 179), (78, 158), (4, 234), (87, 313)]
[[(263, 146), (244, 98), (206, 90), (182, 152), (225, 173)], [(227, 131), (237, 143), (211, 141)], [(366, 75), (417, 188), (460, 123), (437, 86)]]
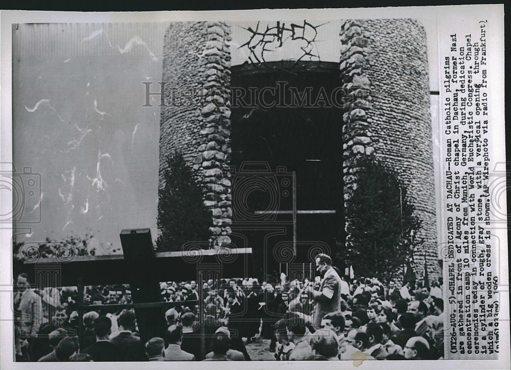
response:
[(424, 28), (412, 19), (347, 20), (340, 40), (344, 87), (355, 95), (343, 117), (345, 197), (356, 183), (355, 156), (374, 155), (396, 170), (422, 222), (416, 237), (424, 241), (424, 250), (415, 252), (415, 270), (422, 276), (425, 254), (428, 272), (437, 276)]

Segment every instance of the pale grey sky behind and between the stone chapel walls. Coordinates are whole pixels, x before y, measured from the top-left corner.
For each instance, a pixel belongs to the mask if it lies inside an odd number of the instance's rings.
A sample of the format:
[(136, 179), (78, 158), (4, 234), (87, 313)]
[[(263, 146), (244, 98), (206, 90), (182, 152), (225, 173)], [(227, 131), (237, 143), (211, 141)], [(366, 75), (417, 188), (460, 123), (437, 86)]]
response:
[[(429, 58), (435, 60), (435, 24), (423, 24)], [(90, 231), (92, 246), (102, 243), (107, 253), (120, 253), (122, 229), (149, 227), (156, 238), (160, 110), (156, 102), (142, 106), (142, 82), (161, 80), (167, 26), (13, 29), (13, 160), (18, 172), (31, 167), (41, 175), (41, 193), (27, 197), (24, 218), (42, 214), (30, 230), (16, 231), (17, 241), (59, 241)], [(233, 25), (233, 64), (247, 58), (238, 46), (246, 42), (248, 26), (255, 23)], [(321, 60), (339, 61), (339, 29), (335, 21), (318, 28)], [(299, 56), (298, 43), (286, 45), (268, 60)], [(430, 62), (430, 75), (436, 76), (436, 61)], [(430, 85), (438, 90), (436, 79)]]

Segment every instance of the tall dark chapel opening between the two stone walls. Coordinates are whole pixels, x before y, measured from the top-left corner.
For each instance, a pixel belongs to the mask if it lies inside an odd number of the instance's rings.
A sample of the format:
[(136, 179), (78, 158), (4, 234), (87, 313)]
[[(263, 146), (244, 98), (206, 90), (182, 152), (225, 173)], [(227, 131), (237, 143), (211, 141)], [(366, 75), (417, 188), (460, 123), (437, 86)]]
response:
[[(296, 246), (291, 264), (309, 266), (315, 242), (334, 254), (336, 241), (343, 238), (341, 83), (338, 63), (282, 61), (231, 68), (231, 88), (240, 97), (231, 106), (234, 179), (249, 163), (252, 176), (269, 177), (275, 185), (247, 190), (233, 181), (233, 232), (246, 236), (254, 259), (263, 259), (261, 272), (282, 269), (279, 263), (287, 260), (273, 253), (282, 243)], [(284, 179), (291, 179), (290, 186)], [(239, 208), (254, 213), (253, 225), (250, 217), (237, 217)], [(278, 232), (265, 227), (283, 231), (268, 237)]]

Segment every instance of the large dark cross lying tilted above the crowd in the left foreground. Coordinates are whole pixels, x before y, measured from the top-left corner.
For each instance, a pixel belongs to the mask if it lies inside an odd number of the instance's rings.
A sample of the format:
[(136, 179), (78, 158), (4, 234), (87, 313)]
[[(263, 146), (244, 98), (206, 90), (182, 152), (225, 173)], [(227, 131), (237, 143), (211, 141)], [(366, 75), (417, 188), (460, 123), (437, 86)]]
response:
[[(23, 265), (35, 287), (78, 288), (78, 336), (81, 340), (83, 313), (90, 310), (115, 312), (134, 308), (141, 339), (164, 338), (167, 328), (165, 310), (188, 305), (184, 302), (162, 302), (160, 281), (197, 281), (200, 313), (203, 312), (202, 284), (208, 279), (251, 276), (251, 248), (220, 248), (203, 250), (202, 243), (190, 243), (183, 251), (159, 252), (153, 248), (149, 229), (123, 230), (120, 234), (123, 255), (75, 256), (42, 258)], [(206, 242), (207, 244), (207, 242)], [(83, 306), (83, 290), (88, 285), (129, 283), (133, 303), (101, 306)], [(199, 314), (199, 321), (203, 315)], [(202, 326), (202, 325), (201, 325)]]

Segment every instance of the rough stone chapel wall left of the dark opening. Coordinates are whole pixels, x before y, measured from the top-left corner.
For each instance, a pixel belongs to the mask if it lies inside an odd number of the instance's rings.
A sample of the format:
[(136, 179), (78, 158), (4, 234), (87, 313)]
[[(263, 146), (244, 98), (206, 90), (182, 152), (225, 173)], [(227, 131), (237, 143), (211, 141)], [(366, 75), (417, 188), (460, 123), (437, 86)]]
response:
[[(180, 151), (203, 187), (212, 235), (229, 243), (230, 27), (224, 22), (176, 22), (165, 34), (165, 104), (160, 117), (159, 186), (167, 157)], [(154, 89), (154, 88), (153, 88)], [(193, 100), (191, 97), (193, 96)], [(184, 226), (184, 225), (183, 225)], [(185, 226), (184, 226), (185, 227)]]

